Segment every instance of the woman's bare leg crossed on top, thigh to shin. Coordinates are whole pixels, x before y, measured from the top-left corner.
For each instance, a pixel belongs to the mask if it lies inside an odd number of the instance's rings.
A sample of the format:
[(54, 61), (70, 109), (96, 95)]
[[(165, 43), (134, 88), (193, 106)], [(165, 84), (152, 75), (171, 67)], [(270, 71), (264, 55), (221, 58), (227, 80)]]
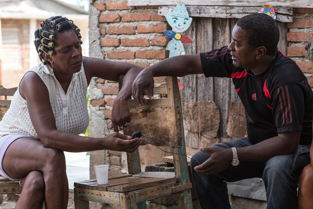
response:
[[(45, 148), (33, 138), (19, 138), (8, 147), (2, 165), (4, 171), (15, 179), (23, 178), (34, 170), (41, 171), (44, 176), (46, 209), (67, 208), (69, 184), (62, 151)], [(23, 208), (33, 209), (28, 205)]]

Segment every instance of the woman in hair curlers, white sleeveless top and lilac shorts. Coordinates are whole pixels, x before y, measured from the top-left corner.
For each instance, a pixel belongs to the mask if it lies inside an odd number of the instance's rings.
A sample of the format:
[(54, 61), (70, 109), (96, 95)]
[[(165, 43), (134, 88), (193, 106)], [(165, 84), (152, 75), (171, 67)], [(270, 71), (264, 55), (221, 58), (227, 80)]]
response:
[[(48, 21), (48, 22), (47, 22)], [(35, 31), (43, 63), (25, 73), (0, 122), (0, 174), (23, 187), (15, 208), (67, 208), (69, 185), (63, 151), (133, 152), (141, 138), (118, 133), (130, 122), (127, 100), (142, 67), (82, 56), (79, 29), (53, 17)], [(40, 43), (40, 44), (39, 44)], [(112, 110), (116, 133), (83, 137), (88, 126), (86, 91), (92, 77), (117, 81), (125, 75)]]

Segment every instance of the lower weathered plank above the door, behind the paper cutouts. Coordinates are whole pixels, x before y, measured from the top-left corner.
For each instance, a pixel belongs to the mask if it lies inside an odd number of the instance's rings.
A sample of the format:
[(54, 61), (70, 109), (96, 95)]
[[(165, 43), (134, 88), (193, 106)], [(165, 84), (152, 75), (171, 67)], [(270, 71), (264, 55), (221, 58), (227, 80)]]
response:
[[(170, 15), (175, 5), (159, 7), (158, 15)], [(261, 7), (239, 6), (186, 6), (189, 16), (205, 18), (242, 18), (248, 14), (258, 13)], [(275, 7), (276, 20), (293, 22), (293, 8)]]

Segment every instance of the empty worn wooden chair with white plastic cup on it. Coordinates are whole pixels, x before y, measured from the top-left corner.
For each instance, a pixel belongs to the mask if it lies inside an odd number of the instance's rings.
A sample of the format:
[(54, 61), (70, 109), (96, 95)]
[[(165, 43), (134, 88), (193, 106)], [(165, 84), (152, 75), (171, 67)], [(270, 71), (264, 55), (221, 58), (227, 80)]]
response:
[[(119, 77), (120, 89), (123, 77)], [(143, 94), (147, 95), (147, 91)], [(98, 185), (96, 179), (75, 182), (76, 209), (89, 208), (89, 201), (121, 205), (121, 209), (146, 209), (146, 201), (171, 194), (176, 194), (180, 209), (192, 209), (192, 184), (184, 156), (186, 147), (177, 77), (167, 77), (167, 83), (155, 87), (154, 94), (167, 94), (167, 98), (148, 99), (143, 106), (134, 99), (128, 100), (131, 123), (124, 129), (124, 134), (141, 131), (144, 141), (156, 146), (171, 146), (176, 153), (173, 156), (175, 173), (141, 172), (137, 149), (127, 153), (129, 174), (109, 176), (105, 185)]]

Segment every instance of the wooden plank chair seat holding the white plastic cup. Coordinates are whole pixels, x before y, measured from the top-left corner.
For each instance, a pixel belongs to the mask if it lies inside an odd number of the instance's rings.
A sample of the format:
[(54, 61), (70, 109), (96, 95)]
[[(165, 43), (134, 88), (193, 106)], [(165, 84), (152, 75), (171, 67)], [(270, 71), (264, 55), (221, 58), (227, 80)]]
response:
[(96, 179), (79, 181), (74, 183), (74, 187), (97, 191), (128, 192), (169, 183), (176, 183), (173, 172), (140, 172), (136, 175), (109, 176), (108, 183), (103, 185), (97, 184)]

